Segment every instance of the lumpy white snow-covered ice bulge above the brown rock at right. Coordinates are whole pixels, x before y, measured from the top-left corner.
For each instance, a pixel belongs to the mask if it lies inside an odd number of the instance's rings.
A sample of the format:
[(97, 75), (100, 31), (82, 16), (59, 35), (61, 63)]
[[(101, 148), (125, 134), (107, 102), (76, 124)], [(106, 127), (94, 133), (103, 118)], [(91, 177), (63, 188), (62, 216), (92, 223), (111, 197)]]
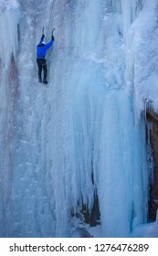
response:
[[(150, 21), (150, 22), (149, 22)], [(127, 37), (127, 73), (129, 85), (132, 81), (138, 110), (144, 108), (144, 100), (153, 101), (153, 109), (158, 110), (157, 61), (158, 48), (157, 1), (145, 1), (142, 12), (133, 22)], [(131, 85), (131, 86), (132, 86)]]

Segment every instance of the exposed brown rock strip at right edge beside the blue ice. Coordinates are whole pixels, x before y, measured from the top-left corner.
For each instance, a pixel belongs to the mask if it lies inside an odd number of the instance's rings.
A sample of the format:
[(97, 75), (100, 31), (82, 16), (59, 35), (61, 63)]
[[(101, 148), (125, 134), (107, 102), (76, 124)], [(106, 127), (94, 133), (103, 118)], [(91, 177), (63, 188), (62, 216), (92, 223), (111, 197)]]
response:
[(158, 209), (158, 114), (149, 109), (146, 116), (147, 121), (153, 124), (153, 129), (150, 132), (150, 141), (153, 149), (154, 167), (149, 197), (149, 219), (155, 220), (156, 210)]

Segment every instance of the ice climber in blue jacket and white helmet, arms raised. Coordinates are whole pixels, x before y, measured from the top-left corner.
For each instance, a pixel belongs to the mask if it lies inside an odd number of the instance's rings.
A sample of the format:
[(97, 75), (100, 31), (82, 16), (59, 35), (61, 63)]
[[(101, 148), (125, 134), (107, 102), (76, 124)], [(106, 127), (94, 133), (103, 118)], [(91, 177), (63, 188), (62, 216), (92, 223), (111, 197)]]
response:
[[(51, 40), (49, 43), (44, 43), (44, 37), (45, 35), (42, 34), (42, 37), (39, 41), (39, 44), (37, 45), (37, 66), (38, 66), (38, 80), (39, 82), (43, 82), (47, 84), (47, 60), (46, 53), (47, 49), (50, 48), (54, 41), (54, 36), (52, 34)], [(43, 80), (42, 80), (42, 69), (43, 69)]]

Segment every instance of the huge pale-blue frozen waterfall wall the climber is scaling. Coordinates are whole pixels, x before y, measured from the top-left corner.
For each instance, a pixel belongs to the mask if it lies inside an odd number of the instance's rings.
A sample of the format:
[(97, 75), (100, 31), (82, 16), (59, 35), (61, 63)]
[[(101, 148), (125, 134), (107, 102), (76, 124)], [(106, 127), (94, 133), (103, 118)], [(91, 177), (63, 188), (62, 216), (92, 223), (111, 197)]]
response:
[[(127, 48), (144, 1), (11, 2), (13, 34), (4, 40), (12, 40), (0, 51), (0, 90), (14, 88), (0, 105), (0, 236), (70, 237), (72, 212), (91, 210), (96, 194), (100, 236), (131, 236), (147, 221), (145, 125)], [(56, 27), (47, 88), (37, 81), (42, 27), (47, 40)]]

